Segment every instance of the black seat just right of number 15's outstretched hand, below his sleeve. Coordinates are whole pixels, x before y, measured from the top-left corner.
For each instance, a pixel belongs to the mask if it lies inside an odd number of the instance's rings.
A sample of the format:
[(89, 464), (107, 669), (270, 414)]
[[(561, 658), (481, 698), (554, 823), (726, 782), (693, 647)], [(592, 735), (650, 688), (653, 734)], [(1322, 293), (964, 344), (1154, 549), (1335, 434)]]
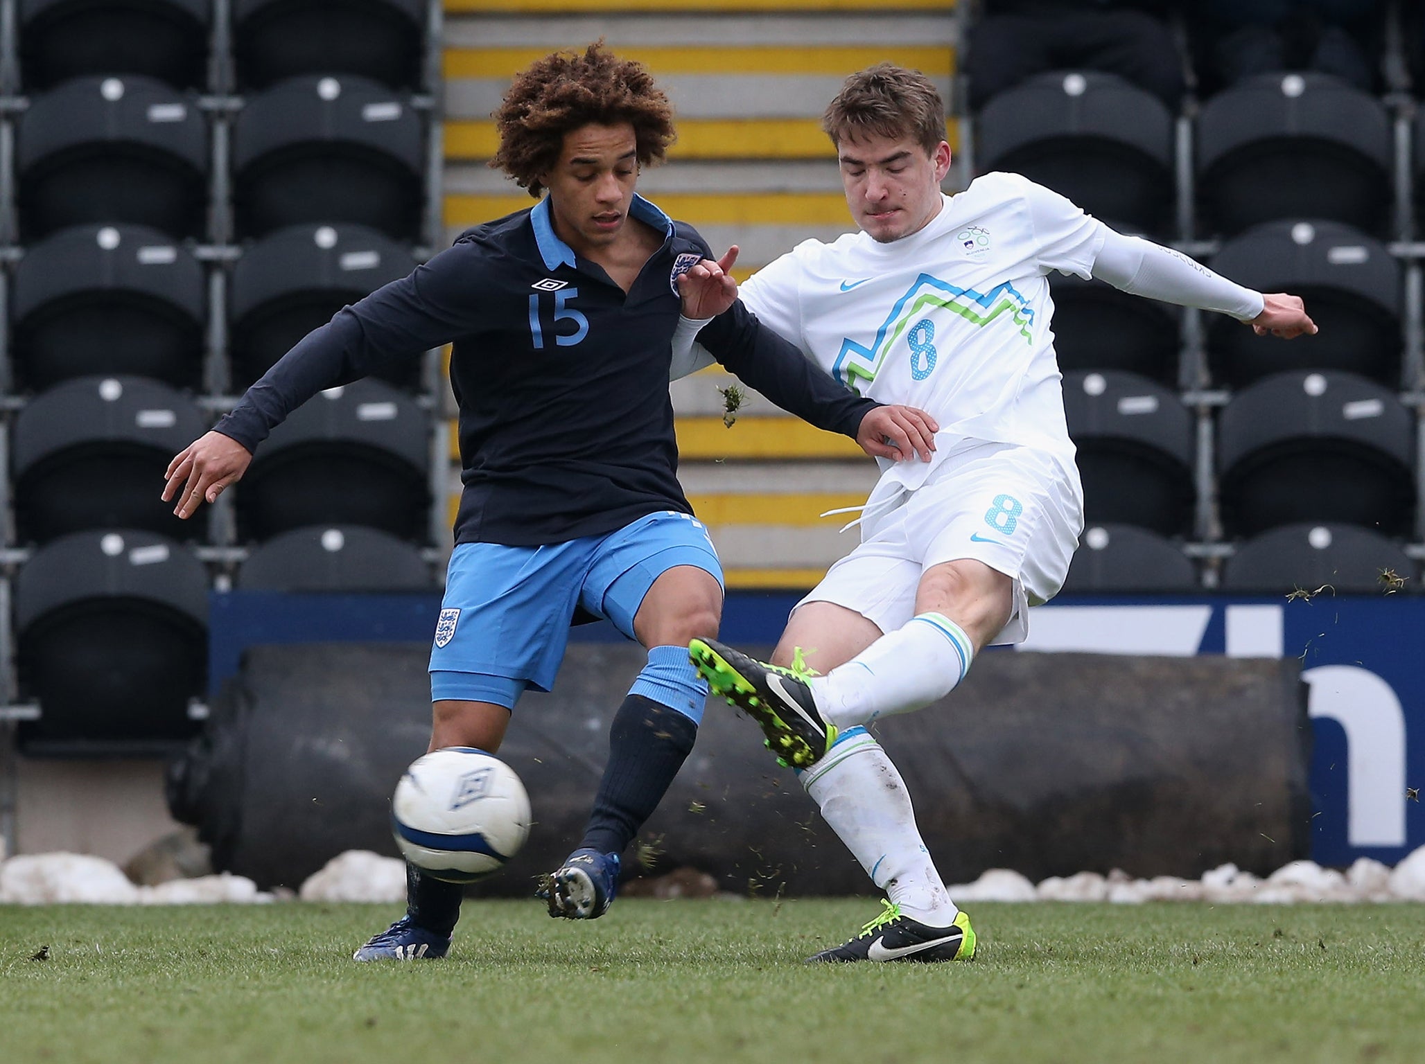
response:
[(362, 524), (429, 538), (429, 416), (406, 393), (358, 380), (315, 396), (258, 449), (237, 487), (238, 534)]

